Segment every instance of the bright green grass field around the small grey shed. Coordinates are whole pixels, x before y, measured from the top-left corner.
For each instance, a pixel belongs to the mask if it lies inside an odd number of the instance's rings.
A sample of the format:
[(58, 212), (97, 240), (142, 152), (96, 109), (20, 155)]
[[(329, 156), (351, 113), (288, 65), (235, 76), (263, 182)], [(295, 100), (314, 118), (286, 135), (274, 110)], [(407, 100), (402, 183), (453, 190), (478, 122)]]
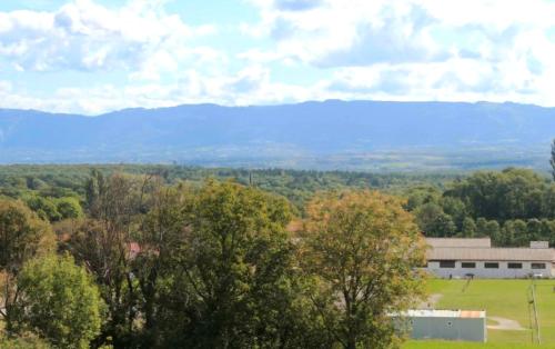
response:
[[(404, 349), (421, 348), (555, 348), (555, 281), (536, 280), (542, 346), (533, 345), (528, 311), (529, 280), (474, 280), (463, 292), (464, 280), (430, 280), (430, 293), (442, 297), (436, 309), (486, 310), (487, 317), (518, 321), (525, 330), (487, 330), (485, 345), (442, 341), (410, 341)], [(491, 321), (488, 321), (490, 323)]]

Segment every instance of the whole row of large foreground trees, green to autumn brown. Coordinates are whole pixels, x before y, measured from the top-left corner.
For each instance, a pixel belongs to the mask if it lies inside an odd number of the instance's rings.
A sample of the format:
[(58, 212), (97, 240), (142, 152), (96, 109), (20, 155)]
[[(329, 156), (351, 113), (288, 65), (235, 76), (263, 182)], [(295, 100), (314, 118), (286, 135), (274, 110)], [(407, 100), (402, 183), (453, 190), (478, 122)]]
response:
[[(233, 181), (93, 171), (83, 215), (52, 225), (0, 200), (3, 345), (389, 348), (423, 295), (401, 199), (326, 191), (302, 219)], [(58, 223), (54, 222), (54, 226)], [(54, 231), (56, 230), (56, 231)]]

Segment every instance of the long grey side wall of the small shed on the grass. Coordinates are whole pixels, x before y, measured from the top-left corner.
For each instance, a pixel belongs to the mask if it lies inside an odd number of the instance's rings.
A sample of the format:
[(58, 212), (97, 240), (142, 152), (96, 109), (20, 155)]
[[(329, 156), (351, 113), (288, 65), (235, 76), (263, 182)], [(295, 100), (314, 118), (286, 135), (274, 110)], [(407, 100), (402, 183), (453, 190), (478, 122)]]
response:
[(485, 342), (487, 329), (485, 318), (410, 318), (411, 338), (445, 339)]

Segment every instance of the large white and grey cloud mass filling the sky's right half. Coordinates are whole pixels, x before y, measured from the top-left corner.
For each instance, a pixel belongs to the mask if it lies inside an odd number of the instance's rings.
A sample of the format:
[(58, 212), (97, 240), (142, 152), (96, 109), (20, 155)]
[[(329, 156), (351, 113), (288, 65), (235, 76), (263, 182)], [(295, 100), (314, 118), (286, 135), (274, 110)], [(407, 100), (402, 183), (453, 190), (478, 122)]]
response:
[(331, 70), (329, 97), (554, 104), (553, 1), (322, 0), (302, 11), (251, 2), (261, 20), (243, 32), (274, 46), (242, 57)]

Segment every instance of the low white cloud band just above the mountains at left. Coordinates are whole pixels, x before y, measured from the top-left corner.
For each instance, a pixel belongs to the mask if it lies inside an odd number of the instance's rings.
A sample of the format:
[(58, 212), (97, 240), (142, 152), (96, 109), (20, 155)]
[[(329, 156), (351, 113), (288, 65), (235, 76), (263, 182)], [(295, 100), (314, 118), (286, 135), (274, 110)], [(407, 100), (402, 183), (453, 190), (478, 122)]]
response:
[(321, 99), (320, 88), (275, 83), (270, 74), (270, 70), (261, 67), (230, 74), (203, 74), (192, 69), (181, 72), (172, 83), (148, 81), (124, 87), (91, 84), (85, 88), (59, 88), (48, 98), (20, 93), (12, 90), (9, 83), (0, 83), (0, 108), (94, 116), (123, 108), (160, 108), (182, 103), (249, 106)]

